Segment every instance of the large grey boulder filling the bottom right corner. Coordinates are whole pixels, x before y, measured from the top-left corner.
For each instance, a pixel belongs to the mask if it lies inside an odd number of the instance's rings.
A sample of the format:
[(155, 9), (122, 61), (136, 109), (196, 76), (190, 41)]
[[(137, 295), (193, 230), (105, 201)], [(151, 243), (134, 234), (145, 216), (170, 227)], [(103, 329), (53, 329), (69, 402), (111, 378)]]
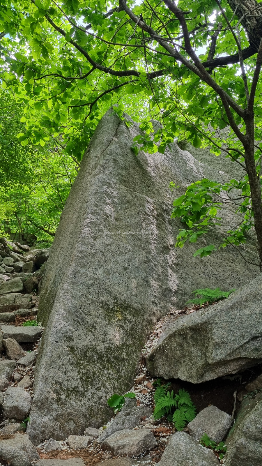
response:
[(242, 401), (226, 443), (226, 466), (262, 465), (262, 393)]

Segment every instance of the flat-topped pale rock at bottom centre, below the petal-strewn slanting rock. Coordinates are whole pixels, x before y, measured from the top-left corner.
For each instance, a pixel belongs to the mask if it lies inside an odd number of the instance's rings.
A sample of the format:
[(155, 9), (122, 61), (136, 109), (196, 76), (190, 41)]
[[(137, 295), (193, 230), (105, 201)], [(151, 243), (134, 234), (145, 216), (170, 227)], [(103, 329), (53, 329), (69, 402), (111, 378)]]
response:
[(155, 445), (155, 438), (149, 429), (124, 429), (110, 435), (101, 447), (103, 450), (110, 450), (113, 455), (138, 456)]

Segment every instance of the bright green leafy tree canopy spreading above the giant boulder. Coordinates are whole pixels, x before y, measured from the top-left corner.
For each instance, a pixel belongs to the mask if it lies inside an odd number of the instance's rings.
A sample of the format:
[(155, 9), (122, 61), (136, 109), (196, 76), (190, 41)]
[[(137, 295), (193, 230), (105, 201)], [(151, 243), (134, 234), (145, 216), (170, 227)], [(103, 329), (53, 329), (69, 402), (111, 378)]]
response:
[[(79, 163), (98, 120), (118, 103), (120, 117), (128, 109), (142, 121), (145, 137), (134, 141), (135, 153), (163, 152), (179, 138), (241, 164), (240, 184), (220, 186), (216, 194), (240, 190), (237, 208), (245, 219), (227, 240), (238, 247), (255, 229), (260, 263), (261, 7), (256, 0), (2, 1), (2, 92), (22, 112), (17, 136), (27, 157), (56, 148)], [(154, 135), (151, 118), (161, 123)], [(213, 185), (203, 189), (214, 195)], [(199, 186), (194, 196), (201, 198)], [(184, 200), (173, 215), (195, 240), (216, 213), (200, 199), (194, 220), (187, 205), (187, 219)]]

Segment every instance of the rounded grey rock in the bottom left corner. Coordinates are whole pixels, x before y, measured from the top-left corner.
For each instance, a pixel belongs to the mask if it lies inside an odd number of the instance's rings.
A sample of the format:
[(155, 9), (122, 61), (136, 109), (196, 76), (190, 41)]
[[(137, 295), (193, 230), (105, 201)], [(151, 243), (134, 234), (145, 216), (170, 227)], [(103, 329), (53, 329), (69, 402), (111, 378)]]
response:
[(27, 434), (15, 433), (11, 439), (0, 440), (0, 458), (10, 466), (31, 466), (39, 455)]

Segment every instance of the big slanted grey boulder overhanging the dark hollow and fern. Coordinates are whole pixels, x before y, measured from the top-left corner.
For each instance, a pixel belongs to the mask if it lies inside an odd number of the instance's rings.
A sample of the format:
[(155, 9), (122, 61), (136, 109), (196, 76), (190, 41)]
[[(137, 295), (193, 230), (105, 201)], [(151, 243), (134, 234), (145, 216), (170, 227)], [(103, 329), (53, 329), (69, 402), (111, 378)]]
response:
[(262, 274), (228, 299), (167, 323), (147, 369), (197, 384), (261, 363), (261, 301)]

